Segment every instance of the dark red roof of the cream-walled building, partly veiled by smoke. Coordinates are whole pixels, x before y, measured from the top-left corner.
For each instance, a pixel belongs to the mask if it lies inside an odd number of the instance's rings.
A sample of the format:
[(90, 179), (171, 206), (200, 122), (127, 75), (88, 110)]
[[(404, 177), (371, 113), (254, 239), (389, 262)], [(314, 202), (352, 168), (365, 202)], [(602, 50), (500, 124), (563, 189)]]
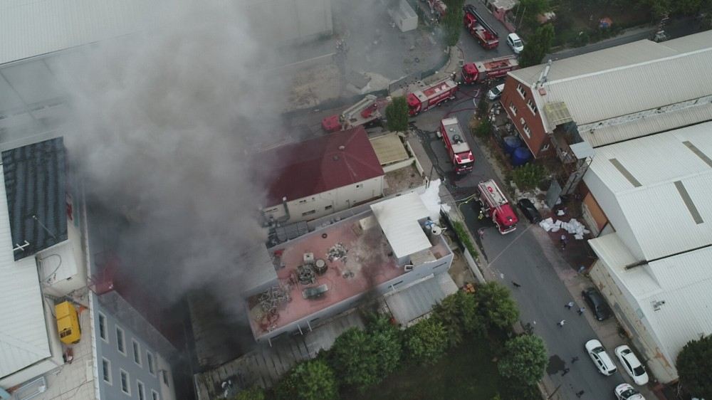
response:
[(277, 164), (268, 206), (380, 177), (383, 168), (363, 127), (268, 150), (259, 157)]

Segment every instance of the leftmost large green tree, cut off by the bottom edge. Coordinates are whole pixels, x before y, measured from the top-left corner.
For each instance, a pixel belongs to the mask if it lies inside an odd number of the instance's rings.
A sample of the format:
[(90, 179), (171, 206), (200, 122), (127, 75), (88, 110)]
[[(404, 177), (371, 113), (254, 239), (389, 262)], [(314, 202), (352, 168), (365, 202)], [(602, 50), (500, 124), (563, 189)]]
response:
[(281, 400), (333, 400), (339, 398), (333, 370), (322, 359), (301, 362), (275, 388)]

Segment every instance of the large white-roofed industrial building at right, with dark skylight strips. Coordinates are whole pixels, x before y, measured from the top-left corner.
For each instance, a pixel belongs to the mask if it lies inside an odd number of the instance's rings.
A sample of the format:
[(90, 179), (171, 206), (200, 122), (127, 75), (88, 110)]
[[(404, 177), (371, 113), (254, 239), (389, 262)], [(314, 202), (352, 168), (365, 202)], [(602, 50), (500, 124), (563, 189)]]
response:
[(590, 272), (656, 379), (712, 334), (712, 122), (596, 148)]

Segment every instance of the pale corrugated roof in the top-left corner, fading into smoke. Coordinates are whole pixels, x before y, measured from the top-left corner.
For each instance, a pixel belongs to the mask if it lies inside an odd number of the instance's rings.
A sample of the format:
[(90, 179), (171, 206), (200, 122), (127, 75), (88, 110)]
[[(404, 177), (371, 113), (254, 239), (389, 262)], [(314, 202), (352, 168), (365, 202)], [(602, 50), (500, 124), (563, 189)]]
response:
[(140, 0), (2, 1), (0, 64), (140, 31), (155, 25), (157, 9)]

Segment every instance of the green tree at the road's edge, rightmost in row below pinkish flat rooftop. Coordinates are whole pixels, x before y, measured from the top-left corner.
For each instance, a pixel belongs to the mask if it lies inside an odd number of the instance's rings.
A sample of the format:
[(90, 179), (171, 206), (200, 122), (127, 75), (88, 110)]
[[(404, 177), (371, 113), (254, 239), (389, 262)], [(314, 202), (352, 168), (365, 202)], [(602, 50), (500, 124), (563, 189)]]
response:
[(511, 329), (519, 319), (519, 309), (509, 290), (496, 282), (478, 286), (475, 292), (478, 310), (487, 325), (501, 330)]

